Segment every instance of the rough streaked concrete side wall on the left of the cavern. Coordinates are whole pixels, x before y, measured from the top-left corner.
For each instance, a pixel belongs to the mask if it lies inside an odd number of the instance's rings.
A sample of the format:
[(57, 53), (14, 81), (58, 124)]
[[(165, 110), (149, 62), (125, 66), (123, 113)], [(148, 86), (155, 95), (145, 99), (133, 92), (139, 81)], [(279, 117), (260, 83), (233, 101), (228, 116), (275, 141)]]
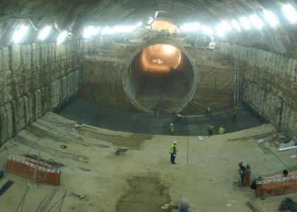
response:
[(0, 143), (76, 93), (80, 71), (75, 52), (82, 49), (80, 42), (0, 49)]

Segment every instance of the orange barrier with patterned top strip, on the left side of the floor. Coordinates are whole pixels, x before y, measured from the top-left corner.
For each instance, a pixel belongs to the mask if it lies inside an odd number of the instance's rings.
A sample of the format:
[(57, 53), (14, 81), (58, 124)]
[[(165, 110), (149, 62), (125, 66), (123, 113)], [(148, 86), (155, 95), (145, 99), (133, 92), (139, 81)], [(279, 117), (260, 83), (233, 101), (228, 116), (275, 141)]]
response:
[[(6, 172), (33, 180), (37, 160), (8, 154)], [(38, 162), (36, 182), (58, 186), (60, 184), (61, 170), (44, 162)]]

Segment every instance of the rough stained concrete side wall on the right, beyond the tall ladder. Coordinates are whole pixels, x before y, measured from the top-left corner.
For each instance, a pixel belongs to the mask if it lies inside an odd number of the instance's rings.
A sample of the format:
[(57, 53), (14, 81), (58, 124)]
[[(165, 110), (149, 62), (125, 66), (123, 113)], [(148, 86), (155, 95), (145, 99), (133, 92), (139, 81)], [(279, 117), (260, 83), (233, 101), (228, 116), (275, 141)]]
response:
[(243, 101), (264, 119), (296, 135), (297, 60), (255, 47), (217, 42), (217, 49), (239, 55), (243, 71)]

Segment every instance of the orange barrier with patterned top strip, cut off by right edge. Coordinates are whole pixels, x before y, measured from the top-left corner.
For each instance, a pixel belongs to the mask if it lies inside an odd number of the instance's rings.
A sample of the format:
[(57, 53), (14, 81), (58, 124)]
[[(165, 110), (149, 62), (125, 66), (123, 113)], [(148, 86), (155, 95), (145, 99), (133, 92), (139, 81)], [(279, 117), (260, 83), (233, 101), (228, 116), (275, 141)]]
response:
[(275, 175), (264, 177), (262, 181), (257, 181), (256, 184), (255, 195), (257, 197), (296, 193), (297, 171), (289, 172), (287, 176)]

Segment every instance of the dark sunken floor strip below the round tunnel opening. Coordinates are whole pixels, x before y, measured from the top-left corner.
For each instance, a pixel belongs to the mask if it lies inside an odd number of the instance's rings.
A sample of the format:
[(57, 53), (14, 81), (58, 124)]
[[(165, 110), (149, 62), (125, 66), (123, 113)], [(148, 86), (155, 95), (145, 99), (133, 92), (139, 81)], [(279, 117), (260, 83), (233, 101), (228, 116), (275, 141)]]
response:
[(174, 123), (176, 136), (205, 136), (208, 134), (209, 122), (215, 123), (214, 134), (218, 134), (221, 124), (225, 125), (225, 133), (250, 129), (262, 124), (245, 107), (240, 107), (235, 124), (232, 123), (232, 110), (213, 112), (211, 117), (191, 115), (177, 122), (175, 114), (156, 116), (156, 114), (124, 112), (100, 105), (91, 105), (83, 100), (70, 102), (59, 111), (59, 114), (68, 119), (104, 129), (142, 134), (169, 135), (169, 126)]

